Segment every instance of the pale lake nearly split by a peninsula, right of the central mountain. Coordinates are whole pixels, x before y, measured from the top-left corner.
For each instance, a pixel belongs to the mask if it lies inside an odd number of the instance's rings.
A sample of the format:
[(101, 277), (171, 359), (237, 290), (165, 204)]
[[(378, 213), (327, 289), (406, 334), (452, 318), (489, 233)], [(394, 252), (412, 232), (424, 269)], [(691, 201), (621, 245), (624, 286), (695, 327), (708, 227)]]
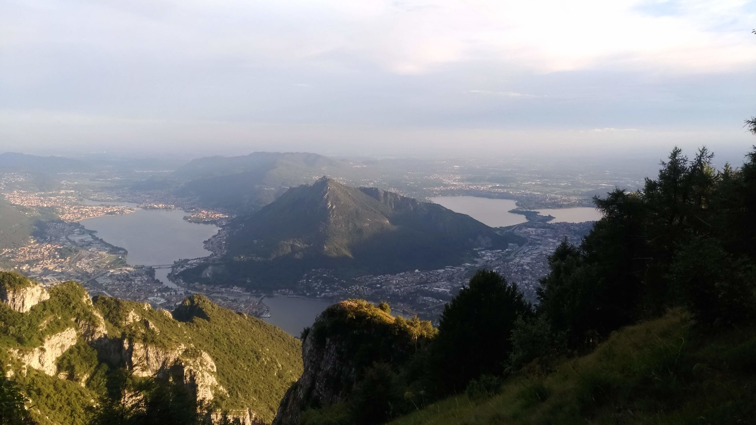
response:
[[(513, 226), (527, 221), (524, 215), (509, 212), (517, 208), (512, 199), (491, 199), (479, 196), (437, 196), (431, 198), (431, 200), (438, 205), (449, 208), (451, 211), (467, 214), (491, 227)], [(601, 218), (601, 213), (596, 208), (590, 207), (550, 208), (536, 211), (543, 215), (552, 215), (554, 220), (551, 220), (550, 223), (582, 223), (600, 220)]]

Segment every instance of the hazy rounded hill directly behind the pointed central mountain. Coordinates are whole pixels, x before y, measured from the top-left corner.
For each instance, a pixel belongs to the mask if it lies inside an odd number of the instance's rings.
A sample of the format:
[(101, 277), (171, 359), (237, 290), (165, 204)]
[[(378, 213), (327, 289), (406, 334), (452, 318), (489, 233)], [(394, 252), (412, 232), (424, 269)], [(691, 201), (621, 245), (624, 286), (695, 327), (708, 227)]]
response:
[(290, 186), (323, 175), (352, 174), (349, 162), (307, 152), (253, 152), (247, 156), (195, 159), (173, 174), (184, 180), (178, 196), (215, 208), (259, 208)]

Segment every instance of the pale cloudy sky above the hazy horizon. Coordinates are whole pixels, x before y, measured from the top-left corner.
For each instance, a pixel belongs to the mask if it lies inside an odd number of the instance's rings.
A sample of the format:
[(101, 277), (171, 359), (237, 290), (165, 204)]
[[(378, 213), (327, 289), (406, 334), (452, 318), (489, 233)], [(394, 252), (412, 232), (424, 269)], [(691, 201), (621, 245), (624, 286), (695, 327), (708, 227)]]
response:
[(0, 151), (745, 152), (756, 0), (3, 0)]

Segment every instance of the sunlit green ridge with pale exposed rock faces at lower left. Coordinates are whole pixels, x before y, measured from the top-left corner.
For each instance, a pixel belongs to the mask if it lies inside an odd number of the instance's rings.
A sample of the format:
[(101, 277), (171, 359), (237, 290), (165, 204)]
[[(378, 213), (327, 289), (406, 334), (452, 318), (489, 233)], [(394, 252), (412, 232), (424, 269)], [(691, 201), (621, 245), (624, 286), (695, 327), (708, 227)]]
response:
[(0, 273), (0, 361), (29, 399), (39, 423), (85, 423), (113, 371), (171, 374), (215, 413), (270, 423), (280, 398), (302, 373), (300, 343), (259, 319), (200, 295), (173, 312), (99, 296), (76, 282), (46, 291)]

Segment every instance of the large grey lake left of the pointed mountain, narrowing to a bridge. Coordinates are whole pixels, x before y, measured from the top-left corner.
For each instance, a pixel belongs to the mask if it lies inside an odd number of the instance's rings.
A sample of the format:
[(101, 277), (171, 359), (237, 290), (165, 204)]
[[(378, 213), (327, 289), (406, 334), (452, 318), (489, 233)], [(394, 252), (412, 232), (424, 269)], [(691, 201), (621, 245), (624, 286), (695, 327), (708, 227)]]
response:
[[(102, 202), (100, 202), (102, 203)], [(113, 205), (111, 202), (107, 202)], [(99, 205), (96, 204), (96, 205)], [(132, 204), (118, 203), (133, 208)], [(210, 254), (203, 242), (218, 233), (218, 226), (189, 223), (181, 210), (137, 209), (130, 214), (107, 215), (81, 220), (87, 229), (110, 245), (129, 251), (126, 262), (132, 266), (172, 264), (181, 258), (206, 257)], [(171, 269), (156, 269), (155, 278), (176, 288), (168, 280)]]

